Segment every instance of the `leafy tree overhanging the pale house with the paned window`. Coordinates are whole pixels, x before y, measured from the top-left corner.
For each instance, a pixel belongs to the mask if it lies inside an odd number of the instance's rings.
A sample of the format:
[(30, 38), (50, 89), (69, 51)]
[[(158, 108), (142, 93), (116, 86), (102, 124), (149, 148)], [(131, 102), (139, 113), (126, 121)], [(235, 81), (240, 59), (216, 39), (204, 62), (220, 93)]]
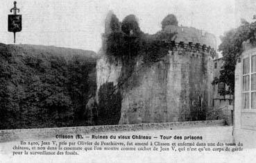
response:
[(234, 28), (224, 34), (221, 37), (221, 44), (219, 45), (219, 51), (223, 55), (223, 67), (219, 78), (215, 78), (212, 84), (225, 83), (229, 86), (228, 92), (225, 94), (234, 94), (234, 69), (237, 64), (237, 60), (243, 52), (242, 44), (245, 41), (255, 44), (256, 35), (256, 23), (248, 23), (245, 20), (241, 20), (241, 26)]

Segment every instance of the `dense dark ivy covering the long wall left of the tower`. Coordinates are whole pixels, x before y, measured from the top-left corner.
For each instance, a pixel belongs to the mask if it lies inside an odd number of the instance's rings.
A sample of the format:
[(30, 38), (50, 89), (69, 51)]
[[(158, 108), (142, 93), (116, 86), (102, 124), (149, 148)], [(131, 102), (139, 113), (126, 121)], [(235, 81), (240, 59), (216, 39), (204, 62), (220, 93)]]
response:
[(83, 53), (0, 44), (0, 128), (86, 125), (85, 105), (96, 91), (96, 58)]

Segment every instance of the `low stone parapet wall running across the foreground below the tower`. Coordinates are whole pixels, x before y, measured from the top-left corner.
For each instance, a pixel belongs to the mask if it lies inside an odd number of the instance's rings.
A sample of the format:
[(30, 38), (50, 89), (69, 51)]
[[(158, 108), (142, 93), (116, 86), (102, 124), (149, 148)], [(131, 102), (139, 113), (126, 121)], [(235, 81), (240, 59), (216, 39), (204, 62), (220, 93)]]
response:
[(1, 141), (14, 141), (19, 139), (42, 139), (47, 137), (56, 137), (56, 135), (89, 135), (99, 132), (123, 132), (139, 130), (177, 130), (185, 128), (198, 128), (210, 126), (224, 126), (224, 120), (213, 121), (182, 121), (169, 123), (140, 123), (113, 126), (85, 126), (68, 128), (33, 128), (33, 129), (15, 129), (0, 130)]

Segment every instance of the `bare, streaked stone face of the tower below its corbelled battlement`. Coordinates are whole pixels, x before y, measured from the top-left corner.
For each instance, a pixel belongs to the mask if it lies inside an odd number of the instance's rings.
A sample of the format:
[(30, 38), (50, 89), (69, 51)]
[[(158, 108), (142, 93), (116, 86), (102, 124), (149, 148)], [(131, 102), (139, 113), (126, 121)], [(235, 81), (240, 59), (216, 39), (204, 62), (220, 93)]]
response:
[[(117, 85), (121, 67), (119, 60), (101, 58), (98, 90), (104, 83)], [(135, 79), (139, 84), (133, 84)], [(135, 73), (121, 90), (119, 124), (205, 120), (212, 106), (212, 80), (210, 51), (180, 48), (146, 67), (137, 58)]]

